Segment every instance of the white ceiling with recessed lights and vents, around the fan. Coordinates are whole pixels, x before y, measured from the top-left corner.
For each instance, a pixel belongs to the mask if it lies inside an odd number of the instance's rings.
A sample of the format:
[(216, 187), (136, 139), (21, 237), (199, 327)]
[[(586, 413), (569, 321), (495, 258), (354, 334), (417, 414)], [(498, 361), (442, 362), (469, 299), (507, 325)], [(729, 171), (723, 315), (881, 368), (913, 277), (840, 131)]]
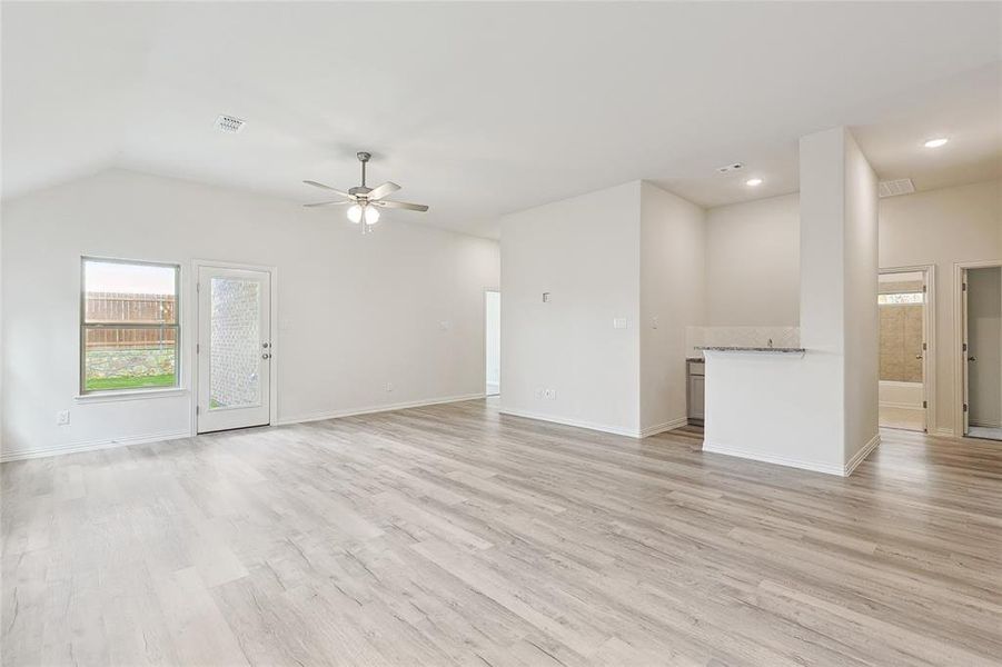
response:
[(387, 216), (494, 236), (638, 178), (794, 191), (797, 138), (837, 125), (927, 189), (1002, 176), (1000, 44), (996, 2), (4, 2), (3, 196), (117, 166), (316, 201), (369, 150), (431, 207)]

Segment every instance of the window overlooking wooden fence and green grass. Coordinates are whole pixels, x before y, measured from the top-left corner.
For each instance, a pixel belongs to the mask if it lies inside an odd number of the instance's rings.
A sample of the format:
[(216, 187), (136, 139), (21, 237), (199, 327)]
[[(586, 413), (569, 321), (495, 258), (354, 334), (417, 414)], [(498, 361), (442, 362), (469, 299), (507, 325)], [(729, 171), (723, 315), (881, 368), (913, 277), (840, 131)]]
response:
[(85, 257), (81, 272), (80, 394), (177, 387), (180, 267)]

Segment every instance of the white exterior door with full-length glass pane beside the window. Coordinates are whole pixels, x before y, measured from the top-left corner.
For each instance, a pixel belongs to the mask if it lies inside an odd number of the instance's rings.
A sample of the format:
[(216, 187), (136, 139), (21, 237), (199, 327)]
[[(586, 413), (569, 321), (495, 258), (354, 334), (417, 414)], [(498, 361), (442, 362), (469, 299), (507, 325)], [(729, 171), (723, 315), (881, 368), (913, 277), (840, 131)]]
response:
[(198, 269), (198, 432), (264, 426), (271, 415), (271, 275)]

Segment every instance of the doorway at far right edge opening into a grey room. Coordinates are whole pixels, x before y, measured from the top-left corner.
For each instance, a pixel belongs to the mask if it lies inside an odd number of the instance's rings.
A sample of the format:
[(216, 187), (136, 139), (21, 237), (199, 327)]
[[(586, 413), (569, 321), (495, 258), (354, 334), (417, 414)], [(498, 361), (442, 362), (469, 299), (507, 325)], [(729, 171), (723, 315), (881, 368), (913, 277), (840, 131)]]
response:
[(1002, 440), (1002, 268), (961, 276), (963, 432)]

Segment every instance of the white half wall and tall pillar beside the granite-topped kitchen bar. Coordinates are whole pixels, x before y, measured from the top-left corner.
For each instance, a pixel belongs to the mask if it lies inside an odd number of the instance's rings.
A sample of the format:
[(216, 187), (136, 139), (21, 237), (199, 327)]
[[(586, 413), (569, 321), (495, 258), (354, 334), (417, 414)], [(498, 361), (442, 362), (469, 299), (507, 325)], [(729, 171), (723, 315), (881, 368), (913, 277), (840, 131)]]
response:
[(707, 352), (703, 448), (842, 475), (877, 441), (876, 178), (844, 128), (801, 138), (800, 169), (807, 351)]

